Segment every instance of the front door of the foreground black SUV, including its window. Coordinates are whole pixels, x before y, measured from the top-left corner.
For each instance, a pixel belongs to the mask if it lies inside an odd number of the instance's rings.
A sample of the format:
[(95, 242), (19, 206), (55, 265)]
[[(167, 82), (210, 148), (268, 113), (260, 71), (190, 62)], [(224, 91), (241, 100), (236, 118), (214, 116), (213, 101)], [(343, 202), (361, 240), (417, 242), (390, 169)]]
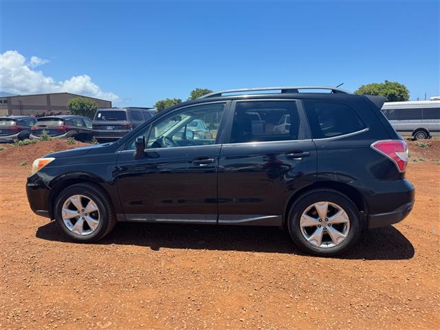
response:
[[(116, 177), (126, 220), (217, 223), (225, 106), (210, 102), (177, 109), (140, 132), (146, 138), (144, 157), (133, 157), (135, 137), (120, 152)], [(206, 131), (196, 134), (194, 122), (203, 122)]]

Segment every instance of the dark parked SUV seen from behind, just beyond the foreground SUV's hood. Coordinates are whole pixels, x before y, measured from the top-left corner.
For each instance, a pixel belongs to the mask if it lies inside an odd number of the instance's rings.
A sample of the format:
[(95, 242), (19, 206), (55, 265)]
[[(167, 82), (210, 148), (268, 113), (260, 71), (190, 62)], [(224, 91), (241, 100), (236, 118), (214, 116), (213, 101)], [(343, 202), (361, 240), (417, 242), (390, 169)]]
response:
[(151, 108), (99, 109), (92, 124), (93, 135), (98, 142), (115, 141), (153, 115), (155, 112)]

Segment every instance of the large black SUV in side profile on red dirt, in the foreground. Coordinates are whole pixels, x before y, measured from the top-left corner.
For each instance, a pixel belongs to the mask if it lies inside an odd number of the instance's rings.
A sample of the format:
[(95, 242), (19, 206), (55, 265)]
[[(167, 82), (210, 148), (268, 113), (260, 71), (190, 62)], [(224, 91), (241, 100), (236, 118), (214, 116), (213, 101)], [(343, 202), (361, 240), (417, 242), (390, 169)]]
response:
[[(312, 88), (331, 92), (302, 92)], [(311, 254), (338, 254), (364, 226), (397, 223), (414, 203), (406, 142), (384, 100), (333, 87), (208, 94), (112, 144), (36, 159), (30, 206), (82, 242), (117, 221), (272, 225)], [(193, 120), (205, 138), (188, 129)]]

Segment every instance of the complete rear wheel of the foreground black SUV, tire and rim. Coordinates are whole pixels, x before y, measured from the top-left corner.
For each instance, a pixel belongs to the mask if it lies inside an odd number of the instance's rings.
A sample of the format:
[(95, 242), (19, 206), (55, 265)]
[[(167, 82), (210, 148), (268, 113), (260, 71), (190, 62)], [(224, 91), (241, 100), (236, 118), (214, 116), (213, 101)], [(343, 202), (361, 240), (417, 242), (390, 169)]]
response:
[[(327, 214), (325, 219), (320, 217), (323, 214)], [(292, 205), (288, 228), (298, 248), (316, 256), (335, 256), (349, 250), (362, 231), (355, 204), (342, 193), (327, 188), (306, 192)]]

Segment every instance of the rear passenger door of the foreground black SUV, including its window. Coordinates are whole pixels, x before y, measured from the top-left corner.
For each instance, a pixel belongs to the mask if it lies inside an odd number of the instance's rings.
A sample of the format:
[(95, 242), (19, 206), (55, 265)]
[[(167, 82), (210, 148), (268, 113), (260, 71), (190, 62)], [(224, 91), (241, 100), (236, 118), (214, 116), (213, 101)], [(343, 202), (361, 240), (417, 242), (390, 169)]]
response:
[[(287, 201), (316, 179), (316, 147), (297, 100), (233, 102), (219, 159), (219, 224), (281, 225)], [(279, 127), (283, 116), (290, 124)]]

